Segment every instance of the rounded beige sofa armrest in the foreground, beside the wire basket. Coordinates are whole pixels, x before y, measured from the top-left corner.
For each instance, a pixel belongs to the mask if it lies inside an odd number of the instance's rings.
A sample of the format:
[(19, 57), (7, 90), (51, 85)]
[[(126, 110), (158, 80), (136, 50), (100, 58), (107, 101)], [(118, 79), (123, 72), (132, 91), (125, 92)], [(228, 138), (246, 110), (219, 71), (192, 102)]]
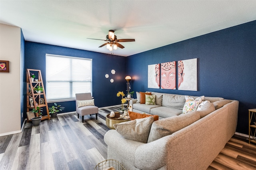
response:
[(104, 136), (108, 145), (108, 159), (118, 160), (127, 169), (155, 170), (166, 165), (166, 139), (142, 143), (128, 140), (116, 130), (108, 130)]

